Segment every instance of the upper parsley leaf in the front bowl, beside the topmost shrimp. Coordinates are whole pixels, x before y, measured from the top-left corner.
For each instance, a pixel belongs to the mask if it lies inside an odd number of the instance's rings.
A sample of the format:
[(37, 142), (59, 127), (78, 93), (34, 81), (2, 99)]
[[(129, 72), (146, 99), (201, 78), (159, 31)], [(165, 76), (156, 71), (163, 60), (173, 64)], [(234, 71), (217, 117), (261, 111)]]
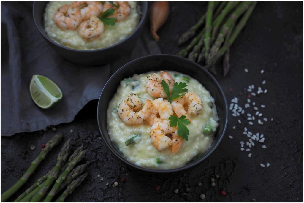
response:
[[(180, 83), (175, 82), (171, 95), (170, 95), (169, 85), (166, 83), (166, 81), (162, 80), (161, 85), (163, 86), (164, 91), (165, 91), (166, 95), (168, 96), (170, 103), (172, 103), (172, 101), (174, 99), (184, 96), (188, 91), (188, 89), (185, 88), (185, 87), (187, 87), (187, 83), (185, 83), (185, 82), (180, 82)], [(181, 94), (183, 92), (185, 92), (185, 93)]]

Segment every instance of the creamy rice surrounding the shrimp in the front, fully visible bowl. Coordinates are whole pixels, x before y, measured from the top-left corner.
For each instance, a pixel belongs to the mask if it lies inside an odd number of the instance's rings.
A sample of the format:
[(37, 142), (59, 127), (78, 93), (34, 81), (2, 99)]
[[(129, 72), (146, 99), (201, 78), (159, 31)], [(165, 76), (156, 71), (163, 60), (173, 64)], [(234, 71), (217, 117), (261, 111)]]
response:
[[(109, 136), (117, 149), (123, 153), (130, 162), (135, 163), (138, 166), (157, 169), (178, 168), (184, 166), (195, 156), (205, 153), (209, 148), (213, 140), (214, 132), (218, 126), (219, 118), (217, 116), (216, 106), (209, 91), (207, 91), (197, 80), (188, 75), (180, 74), (175, 71), (168, 71), (176, 82), (185, 82), (183, 79), (185, 76), (190, 78), (186, 88), (188, 91), (193, 91), (202, 98), (204, 110), (201, 114), (190, 115), (191, 123), (187, 125), (187, 128), (189, 129), (188, 141), (184, 140), (183, 146), (176, 154), (173, 154), (170, 148), (159, 152), (150, 140), (151, 126), (147, 123), (137, 126), (128, 126), (117, 115), (117, 106), (123, 99), (127, 98), (131, 92), (138, 95), (143, 104), (146, 101), (146, 98), (151, 101), (155, 99), (146, 91), (147, 76), (153, 73), (154, 72), (140, 75), (135, 74), (132, 78), (126, 78), (120, 82), (117, 92), (110, 101), (107, 110)], [(137, 81), (132, 82), (132, 79)], [(207, 125), (211, 126), (213, 130), (213, 133), (210, 135), (203, 134), (203, 130)], [(137, 133), (141, 133), (141, 136), (135, 140), (135, 143), (126, 146), (125, 141)], [(156, 157), (164, 163), (156, 163)]]

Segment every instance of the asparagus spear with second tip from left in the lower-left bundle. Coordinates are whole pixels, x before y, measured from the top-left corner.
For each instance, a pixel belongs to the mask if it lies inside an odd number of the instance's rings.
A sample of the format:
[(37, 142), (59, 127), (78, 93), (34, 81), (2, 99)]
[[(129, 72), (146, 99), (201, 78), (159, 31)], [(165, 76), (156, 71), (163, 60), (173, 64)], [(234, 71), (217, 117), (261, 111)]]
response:
[(44, 194), (47, 192), (50, 185), (57, 178), (61, 167), (67, 161), (71, 151), (71, 147), (72, 147), (71, 139), (68, 139), (67, 142), (64, 143), (64, 146), (62, 147), (60, 153), (58, 154), (57, 163), (53, 169), (53, 173), (47, 176), (47, 180), (43, 182), (43, 185), (39, 187), (39, 191), (33, 196), (33, 198), (30, 201), (38, 202), (41, 200), (41, 198), (43, 198)]

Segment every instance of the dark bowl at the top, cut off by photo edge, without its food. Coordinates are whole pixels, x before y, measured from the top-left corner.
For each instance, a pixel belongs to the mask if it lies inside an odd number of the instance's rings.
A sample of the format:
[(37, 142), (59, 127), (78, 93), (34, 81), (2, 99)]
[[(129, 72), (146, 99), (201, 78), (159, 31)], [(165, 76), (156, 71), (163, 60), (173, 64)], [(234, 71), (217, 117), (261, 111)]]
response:
[(129, 51), (136, 44), (136, 40), (140, 38), (140, 35), (143, 31), (143, 26), (147, 19), (148, 13), (148, 3), (147, 2), (139, 2), (141, 8), (141, 19), (138, 23), (136, 29), (131, 33), (126, 39), (113, 44), (112, 46), (108, 46), (102, 49), (94, 49), (94, 50), (77, 50), (71, 49), (60, 44), (57, 44), (53, 40), (47, 36), (44, 31), (44, 20), (43, 13), (47, 2), (34, 2), (33, 4), (33, 17), (36, 24), (37, 29), (43, 36), (43, 38), (50, 44), (50, 46), (59, 53), (62, 57), (67, 60), (87, 65), (99, 65), (110, 63), (120, 56), (127, 55)]

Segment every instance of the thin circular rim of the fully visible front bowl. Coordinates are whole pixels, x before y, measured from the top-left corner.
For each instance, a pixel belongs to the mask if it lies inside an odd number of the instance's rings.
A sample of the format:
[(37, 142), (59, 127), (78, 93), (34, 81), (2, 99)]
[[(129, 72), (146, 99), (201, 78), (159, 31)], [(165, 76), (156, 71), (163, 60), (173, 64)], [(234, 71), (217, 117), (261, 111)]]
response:
[[(224, 123), (224, 128), (223, 128), (223, 132), (221, 133), (221, 135), (219, 135), (219, 140), (217, 141), (217, 143), (214, 145), (214, 147), (208, 152), (208, 153), (204, 153), (203, 157), (193, 161), (192, 163), (189, 163), (188, 165), (185, 165), (185, 166), (182, 166), (182, 167), (179, 167), (179, 168), (174, 168), (174, 169), (161, 169), (161, 170), (158, 170), (158, 169), (149, 169), (149, 168), (144, 168), (144, 167), (140, 167), (134, 163), (131, 163), (130, 161), (128, 161), (126, 158), (124, 158), (117, 150), (112, 150), (112, 148), (109, 146), (110, 143), (108, 143), (106, 140), (105, 140), (105, 136), (103, 135), (102, 133), (102, 128), (101, 128), (101, 125), (100, 125), (100, 120), (99, 120), (99, 105), (101, 104), (101, 98), (102, 98), (102, 94), (103, 94), (103, 91), (105, 89), (105, 87), (109, 84), (110, 81), (112, 81), (112, 79), (114, 77), (116, 77), (116, 75), (121, 72), (123, 69), (125, 69), (126, 67), (128, 67), (130, 64), (132, 63), (135, 63), (137, 62), (138, 60), (143, 60), (143, 59), (149, 59), (150, 57), (173, 57), (173, 58), (177, 58), (179, 60), (184, 60), (184, 61), (187, 61), (187, 63), (190, 63), (190, 64), (193, 64), (193, 65), (196, 65), (196, 66), (199, 66), (201, 68), (201, 70), (203, 72), (205, 72), (205, 74), (207, 74), (211, 80), (213, 81), (213, 83), (219, 88), (219, 93), (220, 95), (223, 97), (224, 99), (224, 112), (226, 111), (226, 117), (223, 118), (225, 119), (225, 123)], [(220, 119), (220, 120), (223, 120), (223, 119)], [(228, 125), (228, 105), (227, 105), (227, 100), (226, 100), (226, 97), (225, 97), (225, 94), (223, 92), (223, 89), (221, 88), (221, 86), (219, 85), (219, 83), (216, 81), (216, 79), (213, 77), (213, 75), (211, 73), (209, 73), (205, 68), (203, 68), (201, 65), (191, 61), (191, 60), (188, 60), (186, 58), (183, 58), (183, 57), (179, 57), (179, 56), (175, 56), (175, 55), (171, 55), (171, 54), (155, 54), (155, 55), (148, 55), (148, 56), (144, 56), (144, 57), (140, 57), (140, 58), (137, 58), (135, 60), (132, 60), (130, 62), (128, 62), (127, 64), (123, 65), (122, 67), (120, 67), (114, 74), (112, 74), (112, 76), (109, 78), (109, 80), (105, 83), (105, 86), (102, 88), (102, 91), (101, 91), (101, 94), (99, 96), (99, 99), (98, 99), (98, 105), (97, 105), (97, 122), (98, 122), (98, 128), (99, 128), (99, 131), (101, 133), (101, 136), (102, 136), (102, 139), (104, 140), (104, 142), (106, 143), (107, 147), (112, 151), (112, 153), (114, 153), (116, 155), (116, 157), (118, 157), (120, 160), (122, 160), (124, 163), (130, 165), (131, 167), (134, 167), (136, 169), (139, 169), (139, 170), (142, 170), (142, 171), (146, 171), (146, 172), (150, 172), (150, 173), (160, 173), (160, 174), (165, 174), (165, 173), (174, 173), (174, 172), (179, 172), (179, 171), (182, 171), (182, 170), (185, 170), (185, 169), (189, 169), (191, 167), (194, 167), (195, 165), (198, 165), (199, 163), (201, 163), (203, 160), (205, 160), (207, 157), (210, 156), (210, 154), (217, 148), (217, 146), (219, 145), (219, 143), (222, 141), (223, 139), (223, 136), (226, 132), (226, 129), (227, 129), (227, 125)], [(108, 129), (106, 129), (108, 131)], [(213, 142), (213, 140), (212, 140)]]

